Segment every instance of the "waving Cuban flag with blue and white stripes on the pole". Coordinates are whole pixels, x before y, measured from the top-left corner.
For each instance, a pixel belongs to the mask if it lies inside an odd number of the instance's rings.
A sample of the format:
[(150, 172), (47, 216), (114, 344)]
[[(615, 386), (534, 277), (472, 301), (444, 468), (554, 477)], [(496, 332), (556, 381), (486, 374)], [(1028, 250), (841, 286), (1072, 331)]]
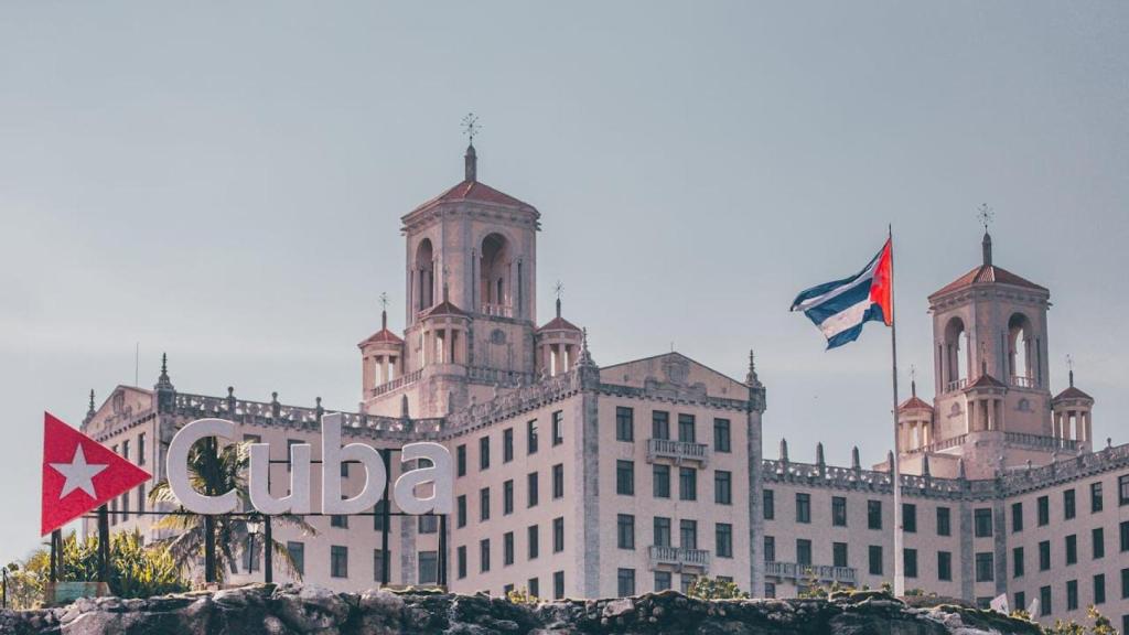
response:
[(850, 278), (825, 282), (802, 292), (791, 303), (828, 338), (828, 349), (858, 339), (863, 324), (893, 323), (893, 254), (886, 240), (878, 255)]

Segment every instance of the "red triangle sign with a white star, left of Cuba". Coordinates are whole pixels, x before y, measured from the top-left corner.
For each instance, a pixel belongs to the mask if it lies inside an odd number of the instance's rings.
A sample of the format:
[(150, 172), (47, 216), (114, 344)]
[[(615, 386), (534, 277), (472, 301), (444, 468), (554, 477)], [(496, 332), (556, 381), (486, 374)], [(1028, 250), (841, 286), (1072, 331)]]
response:
[(43, 414), (43, 536), (150, 478), (105, 445)]

